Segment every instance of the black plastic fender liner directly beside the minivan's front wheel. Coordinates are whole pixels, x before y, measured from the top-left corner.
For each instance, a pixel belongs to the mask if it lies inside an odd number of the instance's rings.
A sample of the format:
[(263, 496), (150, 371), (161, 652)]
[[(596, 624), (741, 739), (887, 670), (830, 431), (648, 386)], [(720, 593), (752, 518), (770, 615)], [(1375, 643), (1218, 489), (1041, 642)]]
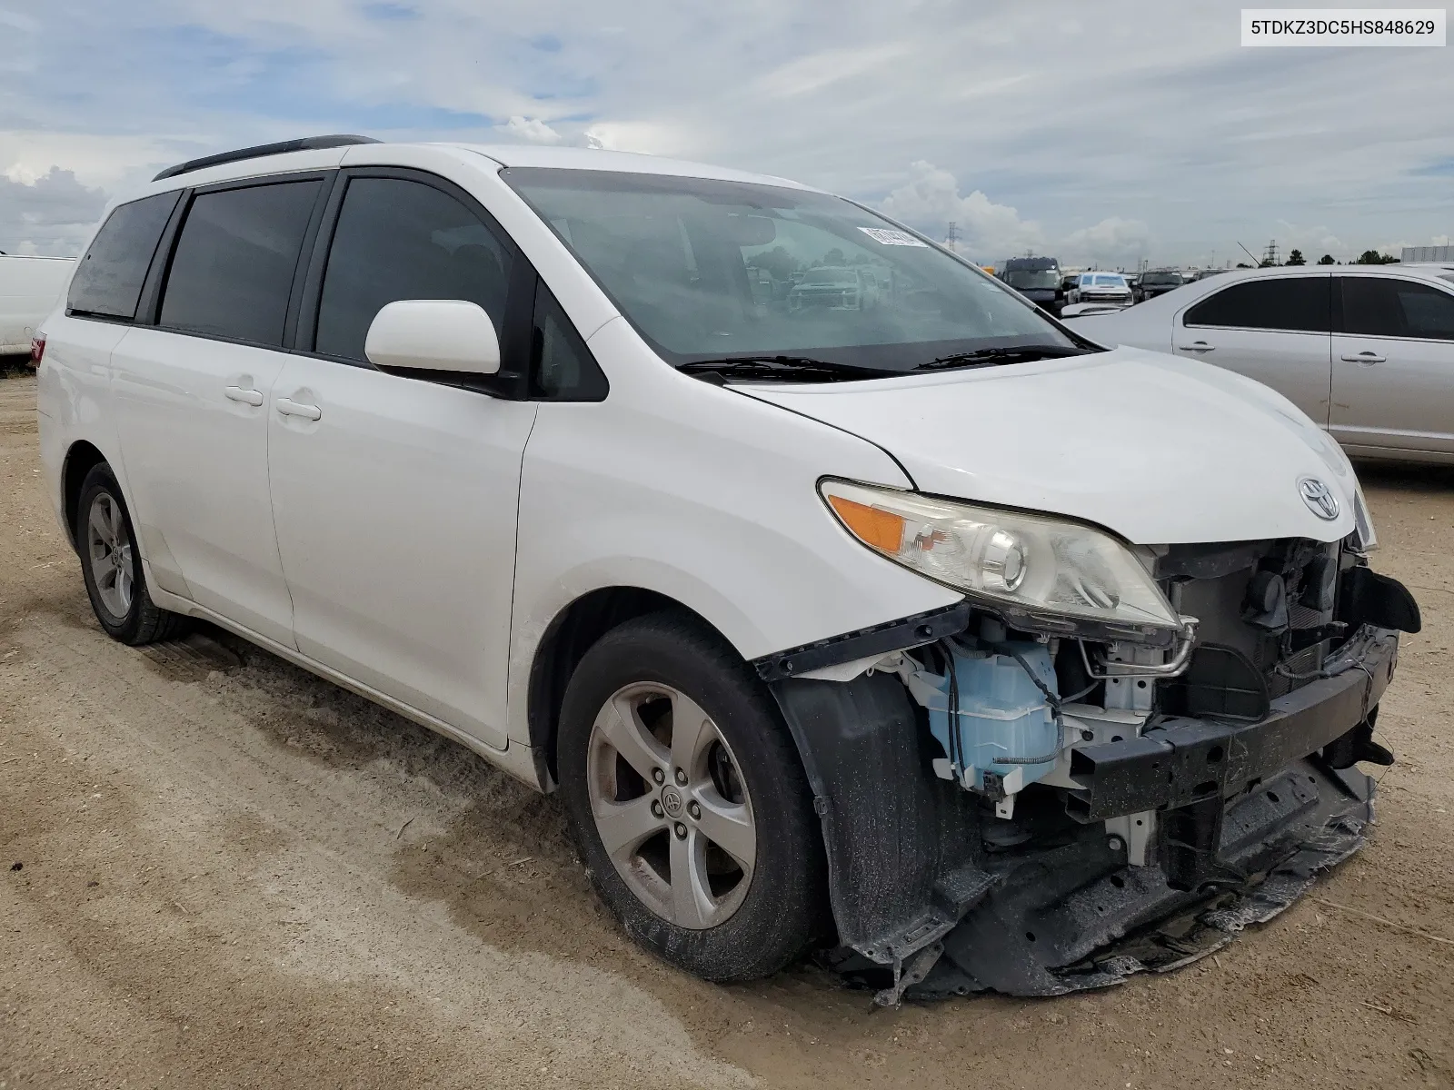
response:
[(977, 865), (974, 801), (932, 775), (939, 753), (896, 676), (779, 680), (772, 692), (823, 821), (839, 939), (901, 964), (997, 881)]

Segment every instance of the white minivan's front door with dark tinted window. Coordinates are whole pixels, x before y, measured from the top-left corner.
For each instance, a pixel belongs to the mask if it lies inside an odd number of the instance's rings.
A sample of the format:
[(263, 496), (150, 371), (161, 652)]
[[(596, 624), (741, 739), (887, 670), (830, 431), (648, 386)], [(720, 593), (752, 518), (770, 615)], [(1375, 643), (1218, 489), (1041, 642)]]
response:
[(316, 353), (289, 358), (269, 404), (297, 645), (503, 748), (521, 459), (537, 405), (384, 374), (364, 342), (395, 299), (468, 299), (500, 330), (512, 247), (433, 185), (346, 185)]

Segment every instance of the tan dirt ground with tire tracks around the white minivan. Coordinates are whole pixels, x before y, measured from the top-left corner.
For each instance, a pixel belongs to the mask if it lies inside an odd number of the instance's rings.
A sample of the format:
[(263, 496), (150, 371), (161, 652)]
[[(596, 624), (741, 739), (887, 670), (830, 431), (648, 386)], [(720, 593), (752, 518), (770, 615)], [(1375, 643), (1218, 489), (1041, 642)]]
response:
[(0, 1089), (1454, 1087), (1451, 471), (1364, 468), (1425, 626), (1361, 855), (1181, 972), (871, 1012), (653, 961), (459, 746), (230, 637), (108, 639), (33, 410), (0, 381)]

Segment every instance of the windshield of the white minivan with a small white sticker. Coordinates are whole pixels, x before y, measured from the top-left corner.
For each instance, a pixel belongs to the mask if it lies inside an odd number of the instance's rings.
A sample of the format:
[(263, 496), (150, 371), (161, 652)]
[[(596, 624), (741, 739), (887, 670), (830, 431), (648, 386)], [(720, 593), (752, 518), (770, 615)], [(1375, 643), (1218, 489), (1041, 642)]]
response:
[(500, 177), (676, 366), (782, 355), (907, 371), (1077, 344), (992, 276), (842, 198), (598, 170)]

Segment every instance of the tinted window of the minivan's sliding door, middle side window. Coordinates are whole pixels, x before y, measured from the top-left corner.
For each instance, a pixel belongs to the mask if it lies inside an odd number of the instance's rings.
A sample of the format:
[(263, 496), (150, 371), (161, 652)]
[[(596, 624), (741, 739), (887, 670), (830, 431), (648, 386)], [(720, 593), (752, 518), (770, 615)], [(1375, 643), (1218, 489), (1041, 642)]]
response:
[(288, 295), (317, 179), (201, 193), (177, 238), (161, 324), (282, 344)]

